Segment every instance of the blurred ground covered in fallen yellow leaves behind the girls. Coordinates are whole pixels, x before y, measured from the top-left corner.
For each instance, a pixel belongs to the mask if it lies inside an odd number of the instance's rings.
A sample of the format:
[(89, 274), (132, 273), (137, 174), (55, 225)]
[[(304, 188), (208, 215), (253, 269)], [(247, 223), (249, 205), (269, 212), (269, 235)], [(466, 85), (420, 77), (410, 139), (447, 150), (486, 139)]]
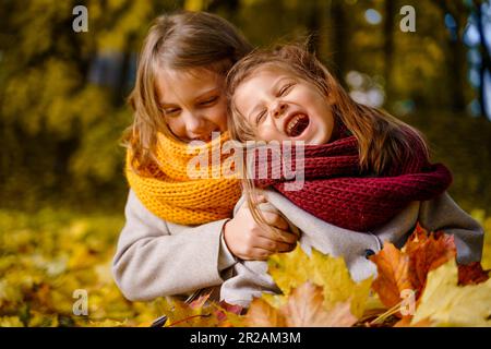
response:
[[(491, 268), (491, 218), (482, 265)], [(0, 326), (134, 326), (161, 315), (165, 300), (129, 302), (110, 275), (124, 220), (120, 214), (37, 214), (0, 210)], [(86, 290), (88, 315), (73, 314), (75, 290)]]

